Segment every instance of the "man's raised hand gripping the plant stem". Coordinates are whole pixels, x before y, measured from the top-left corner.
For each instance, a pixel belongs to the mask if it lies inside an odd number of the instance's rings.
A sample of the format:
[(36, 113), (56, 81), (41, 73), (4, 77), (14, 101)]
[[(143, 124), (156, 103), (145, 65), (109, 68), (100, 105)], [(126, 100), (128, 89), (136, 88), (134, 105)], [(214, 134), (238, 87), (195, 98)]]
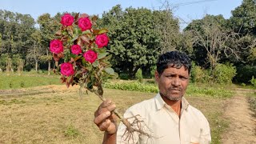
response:
[(114, 103), (108, 99), (102, 102), (94, 113), (94, 123), (99, 130), (105, 131), (106, 134), (115, 134), (118, 130), (114, 114), (111, 114), (115, 107)]

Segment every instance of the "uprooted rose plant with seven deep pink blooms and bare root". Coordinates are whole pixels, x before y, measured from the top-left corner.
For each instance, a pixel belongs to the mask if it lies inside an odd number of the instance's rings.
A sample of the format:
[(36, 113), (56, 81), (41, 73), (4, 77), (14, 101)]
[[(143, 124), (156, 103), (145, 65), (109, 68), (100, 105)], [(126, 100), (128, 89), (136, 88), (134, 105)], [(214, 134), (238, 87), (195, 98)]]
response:
[[(60, 59), (64, 60), (59, 67), (62, 82), (67, 87), (79, 85), (79, 94), (85, 88), (106, 101), (103, 97), (103, 84), (107, 78), (117, 78), (118, 74), (111, 68), (111, 55), (104, 49), (110, 40), (106, 34), (108, 30), (97, 29), (96, 20), (96, 16), (90, 18), (88, 14), (76, 14), (74, 17), (64, 14), (62, 26), (55, 33), (56, 38), (50, 42), (50, 52), (53, 53), (56, 66)], [(114, 114), (127, 126), (128, 131), (146, 134), (142, 130), (134, 129), (116, 110)]]

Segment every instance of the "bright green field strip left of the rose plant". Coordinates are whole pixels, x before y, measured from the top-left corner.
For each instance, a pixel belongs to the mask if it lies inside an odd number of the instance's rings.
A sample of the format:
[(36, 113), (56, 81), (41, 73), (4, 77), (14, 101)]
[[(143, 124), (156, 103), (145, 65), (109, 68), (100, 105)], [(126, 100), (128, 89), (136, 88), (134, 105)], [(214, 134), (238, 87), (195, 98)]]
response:
[(61, 84), (60, 76), (47, 76), (46, 74), (0, 74), (0, 90), (20, 89), (33, 86), (46, 86)]

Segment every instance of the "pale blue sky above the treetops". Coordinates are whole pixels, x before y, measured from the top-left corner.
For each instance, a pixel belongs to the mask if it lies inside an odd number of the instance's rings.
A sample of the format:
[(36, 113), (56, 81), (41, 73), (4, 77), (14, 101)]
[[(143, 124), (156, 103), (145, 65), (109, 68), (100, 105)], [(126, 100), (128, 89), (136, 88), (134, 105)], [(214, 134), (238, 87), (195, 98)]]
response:
[(79, 12), (102, 15), (113, 6), (120, 4), (122, 9), (132, 6), (159, 10), (163, 2), (169, 2), (176, 18), (184, 28), (193, 19), (201, 19), (205, 14), (222, 14), (230, 18), (231, 10), (242, 4), (242, 0), (0, 0), (0, 10), (20, 14), (30, 14), (35, 20), (42, 14), (54, 16), (58, 12)]

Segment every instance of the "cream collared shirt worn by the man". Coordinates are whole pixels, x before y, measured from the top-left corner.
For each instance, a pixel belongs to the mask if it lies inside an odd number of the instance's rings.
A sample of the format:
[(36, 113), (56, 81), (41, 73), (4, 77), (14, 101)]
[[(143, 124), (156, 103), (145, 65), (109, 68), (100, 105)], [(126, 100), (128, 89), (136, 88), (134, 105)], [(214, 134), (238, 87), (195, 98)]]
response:
[[(134, 116), (137, 116), (134, 118)], [(133, 127), (150, 134), (129, 134), (121, 122), (118, 126), (117, 143), (140, 144), (190, 144), (210, 143), (210, 126), (206, 117), (182, 98), (182, 110), (178, 114), (163, 101), (160, 94), (131, 106), (124, 118), (133, 122)], [(140, 122), (138, 122), (140, 121)]]

